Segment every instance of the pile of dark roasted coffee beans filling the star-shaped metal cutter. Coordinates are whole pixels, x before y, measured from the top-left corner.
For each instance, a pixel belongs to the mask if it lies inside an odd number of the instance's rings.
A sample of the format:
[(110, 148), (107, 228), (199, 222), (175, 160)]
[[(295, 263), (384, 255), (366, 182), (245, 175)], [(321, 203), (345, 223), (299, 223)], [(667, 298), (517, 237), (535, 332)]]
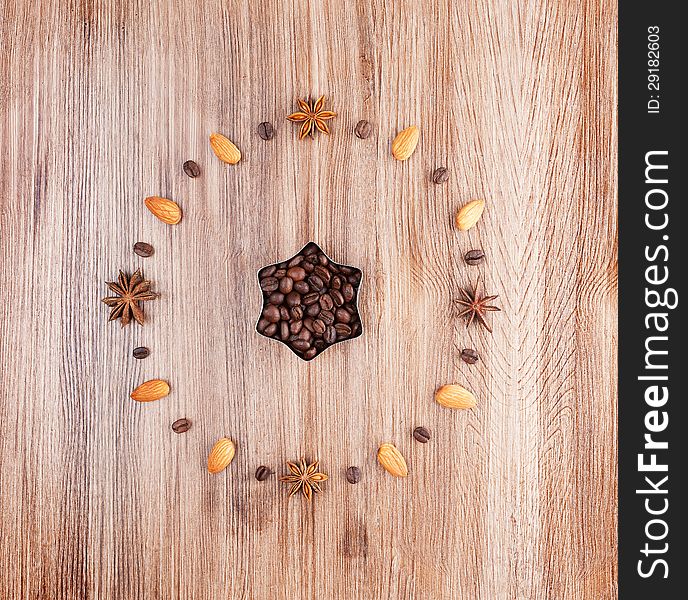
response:
[(313, 242), (261, 269), (258, 282), (264, 301), (256, 330), (304, 360), (363, 331), (356, 306), (361, 271), (333, 263)]

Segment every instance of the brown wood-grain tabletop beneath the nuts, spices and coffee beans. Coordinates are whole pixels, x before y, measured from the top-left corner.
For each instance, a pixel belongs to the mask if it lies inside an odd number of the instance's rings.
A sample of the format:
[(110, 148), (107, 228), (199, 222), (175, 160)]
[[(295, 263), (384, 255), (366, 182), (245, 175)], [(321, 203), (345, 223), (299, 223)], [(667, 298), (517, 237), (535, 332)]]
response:
[[(616, 597), (615, 2), (108, 4), (3, 7), (0, 596)], [(299, 142), (308, 94), (339, 116)], [(255, 333), (255, 273), (309, 240), (363, 270), (365, 331), (306, 364)], [(122, 330), (104, 281), (139, 266), (161, 298)], [(478, 274), (493, 335), (452, 304)], [(130, 400), (152, 377), (172, 394)], [(477, 408), (436, 405), (448, 382)], [(223, 435), (237, 457), (210, 476)], [(331, 476), (312, 506), (253, 478), (301, 455)]]

